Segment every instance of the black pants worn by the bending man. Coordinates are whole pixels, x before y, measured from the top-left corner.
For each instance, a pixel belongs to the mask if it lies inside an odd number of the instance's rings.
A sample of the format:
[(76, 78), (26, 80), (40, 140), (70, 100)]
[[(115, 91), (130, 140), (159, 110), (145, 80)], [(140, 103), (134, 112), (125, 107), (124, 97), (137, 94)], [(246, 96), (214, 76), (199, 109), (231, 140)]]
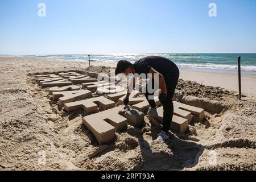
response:
[[(164, 80), (166, 81), (167, 88), (167, 100), (164, 101), (163, 104), (163, 131), (168, 132), (170, 130), (172, 117), (174, 116), (174, 104), (172, 103), (172, 97), (174, 97), (175, 89), (177, 86), (177, 82), (179, 80), (180, 72), (179, 69), (175, 73), (171, 73), (168, 75), (164, 75)], [(145, 96), (147, 98), (148, 103), (151, 107), (156, 107), (155, 101), (150, 99), (152, 98), (154, 93), (146, 93)]]

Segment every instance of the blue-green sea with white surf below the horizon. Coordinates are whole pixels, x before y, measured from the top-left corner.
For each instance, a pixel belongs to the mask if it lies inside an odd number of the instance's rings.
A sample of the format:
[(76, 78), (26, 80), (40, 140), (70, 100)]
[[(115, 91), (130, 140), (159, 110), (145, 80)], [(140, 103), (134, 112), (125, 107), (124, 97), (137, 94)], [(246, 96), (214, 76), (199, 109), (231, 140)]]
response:
[[(14, 55), (0, 55), (14, 56)], [(90, 61), (127, 60), (135, 62), (145, 56), (166, 57), (179, 68), (210, 72), (237, 72), (238, 56), (241, 56), (241, 71), (256, 74), (256, 53), (144, 53), (144, 54), (90, 54)], [(57, 58), (67, 61), (88, 61), (89, 55), (23, 55), (20, 57)]]

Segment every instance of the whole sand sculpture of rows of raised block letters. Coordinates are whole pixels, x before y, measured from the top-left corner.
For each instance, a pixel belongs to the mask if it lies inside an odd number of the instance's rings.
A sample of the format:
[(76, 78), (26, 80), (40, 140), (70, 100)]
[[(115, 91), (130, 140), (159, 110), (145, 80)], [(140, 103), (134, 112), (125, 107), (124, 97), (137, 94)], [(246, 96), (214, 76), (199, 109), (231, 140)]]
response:
[[(139, 92), (134, 90), (131, 93), (129, 105), (130, 110), (124, 110), (123, 98), (126, 95), (125, 88), (115, 86), (113, 83), (98, 81), (95, 78), (82, 76), (75, 72), (60, 73), (56, 75), (36, 75), (43, 87), (55, 86), (48, 90), (59, 105), (64, 106), (67, 112), (82, 109), (86, 111), (86, 116), (82, 118), (82, 123), (92, 132), (98, 143), (105, 144), (112, 142), (117, 130), (124, 130), (129, 125), (141, 126), (144, 121), (145, 112), (150, 105), (146, 97), (139, 96)], [(63, 79), (68, 78), (69, 81)], [(61, 83), (70, 84), (63, 86)], [(82, 84), (82, 90), (75, 83)], [(62, 87), (58, 87), (62, 86)], [(71, 91), (70, 91), (71, 90)], [(104, 96), (89, 98), (92, 96), (92, 90), (97, 90), (97, 94)], [(150, 113), (150, 118), (163, 122), (163, 107), (158, 97), (154, 97), (156, 113)], [(117, 106), (116, 106), (117, 105)], [(123, 114), (120, 114), (123, 113)], [(192, 115), (200, 121), (204, 119), (204, 109), (199, 107), (174, 102), (174, 117), (171, 121), (171, 130), (184, 133), (188, 129), (188, 124), (192, 121)]]

